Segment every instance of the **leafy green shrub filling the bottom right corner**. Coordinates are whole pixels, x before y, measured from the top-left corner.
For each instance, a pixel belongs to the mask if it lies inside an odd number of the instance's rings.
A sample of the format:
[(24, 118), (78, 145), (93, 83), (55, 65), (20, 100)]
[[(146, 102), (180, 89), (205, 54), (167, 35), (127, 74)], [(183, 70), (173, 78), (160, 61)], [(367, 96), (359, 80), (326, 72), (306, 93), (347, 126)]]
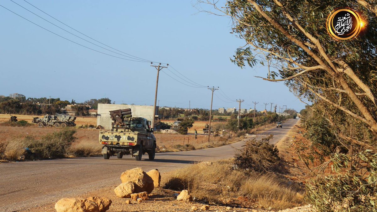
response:
[(307, 184), (305, 200), (323, 212), (376, 211), (377, 154), (371, 150), (353, 156), (334, 153), (319, 169), (324, 171), (329, 164), (338, 174), (318, 177)]

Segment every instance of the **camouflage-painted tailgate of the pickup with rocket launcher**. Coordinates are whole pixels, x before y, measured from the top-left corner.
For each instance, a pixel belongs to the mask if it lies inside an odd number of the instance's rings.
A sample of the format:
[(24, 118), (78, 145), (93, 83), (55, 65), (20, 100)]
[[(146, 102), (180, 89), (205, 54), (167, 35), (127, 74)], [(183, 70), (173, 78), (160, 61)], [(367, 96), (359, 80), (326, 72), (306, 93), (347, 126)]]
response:
[(135, 132), (100, 132), (99, 139), (101, 144), (134, 146), (137, 143), (138, 134)]

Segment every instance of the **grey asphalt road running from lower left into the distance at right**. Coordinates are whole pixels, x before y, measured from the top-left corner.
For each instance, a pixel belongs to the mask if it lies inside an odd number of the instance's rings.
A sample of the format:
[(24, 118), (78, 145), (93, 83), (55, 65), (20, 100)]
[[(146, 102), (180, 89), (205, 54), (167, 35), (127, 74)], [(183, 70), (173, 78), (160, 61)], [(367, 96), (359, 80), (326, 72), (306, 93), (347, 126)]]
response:
[[(285, 138), (296, 124), (291, 119), (283, 128), (271, 128), (259, 135), (273, 134), (269, 143), (275, 144)], [(141, 161), (129, 155), (122, 159), (110, 157), (66, 158), (57, 160), (24, 161), (0, 164), (0, 211), (16, 211), (49, 204), (64, 197), (75, 197), (103, 187), (116, 186), (120, 175), (127, 169), (141, 167), (144, 171), (158, 169), (160, 172), (179, 169), (196, 161), (213, 161), (233, 157), (244, 142), (211, 149), (187, 152), (156, 153), (156, 159), (149, 161), (147, 154)], [(232, 148), (232, 147), (234, 148)]]

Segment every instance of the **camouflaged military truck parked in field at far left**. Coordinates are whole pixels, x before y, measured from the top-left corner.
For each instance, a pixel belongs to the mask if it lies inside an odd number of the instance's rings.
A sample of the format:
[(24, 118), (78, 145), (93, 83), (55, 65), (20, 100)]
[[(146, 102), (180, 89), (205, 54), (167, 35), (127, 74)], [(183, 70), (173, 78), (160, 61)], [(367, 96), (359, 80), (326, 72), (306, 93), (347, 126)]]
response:
[(44, 115), (43, 118), (34, 117), (32, 123), (38, 124), (38, 127), (54, 126), (56, 128), (66, 126), (76, 126), (76, 117), (66, 114)]

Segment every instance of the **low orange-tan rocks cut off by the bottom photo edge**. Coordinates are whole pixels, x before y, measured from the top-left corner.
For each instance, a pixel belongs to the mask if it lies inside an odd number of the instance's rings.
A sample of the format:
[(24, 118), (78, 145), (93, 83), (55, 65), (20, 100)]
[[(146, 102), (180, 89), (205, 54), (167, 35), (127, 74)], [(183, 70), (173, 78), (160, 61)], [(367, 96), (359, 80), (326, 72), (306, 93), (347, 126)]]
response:
[(62, 198), (55, 203), (57, 212), (105, 212), (112, 201), (106, 197)]

